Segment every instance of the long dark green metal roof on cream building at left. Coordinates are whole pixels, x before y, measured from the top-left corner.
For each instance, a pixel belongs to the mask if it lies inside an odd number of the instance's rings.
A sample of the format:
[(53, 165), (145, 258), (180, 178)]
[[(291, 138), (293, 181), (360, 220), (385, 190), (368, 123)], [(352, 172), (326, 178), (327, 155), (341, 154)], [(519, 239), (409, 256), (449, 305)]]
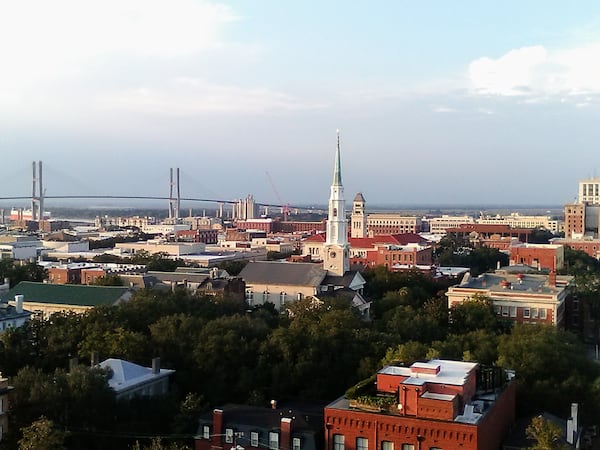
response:
[(73, 306), (114, 305), (129, 290), (121, 286), (85, 286), (79, 284), (47, 284), (21, 281), (13, 287), (7, 299), (24, 295), (25, 302)]

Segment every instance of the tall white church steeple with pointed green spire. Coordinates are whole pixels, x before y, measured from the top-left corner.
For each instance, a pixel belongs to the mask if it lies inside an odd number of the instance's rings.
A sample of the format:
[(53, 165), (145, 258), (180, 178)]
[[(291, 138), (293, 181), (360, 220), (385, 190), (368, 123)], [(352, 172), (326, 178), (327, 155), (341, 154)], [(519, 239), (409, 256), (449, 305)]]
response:
[(350, 270), (350, 252), (348, 246), (348, 221), (342, 184), (342, 163), (340, 155), (340, 134), (337, 134), (337, 146), (333, 168), (333, 182), (329, 195), (329, 214), (327, 219), (327, 237), (323, 247), (323, 268), (329, 275), (343, 276)]

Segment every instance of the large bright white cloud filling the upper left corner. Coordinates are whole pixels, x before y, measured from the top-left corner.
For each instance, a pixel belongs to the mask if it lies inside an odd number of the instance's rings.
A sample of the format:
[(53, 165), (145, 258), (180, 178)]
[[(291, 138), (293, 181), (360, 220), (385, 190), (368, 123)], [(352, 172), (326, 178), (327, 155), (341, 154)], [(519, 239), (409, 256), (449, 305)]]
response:
[(238, 17), (208, 1), (0, 2), (0, 86), (78, 79), (107, 61), (172, 59), (222, 45)]

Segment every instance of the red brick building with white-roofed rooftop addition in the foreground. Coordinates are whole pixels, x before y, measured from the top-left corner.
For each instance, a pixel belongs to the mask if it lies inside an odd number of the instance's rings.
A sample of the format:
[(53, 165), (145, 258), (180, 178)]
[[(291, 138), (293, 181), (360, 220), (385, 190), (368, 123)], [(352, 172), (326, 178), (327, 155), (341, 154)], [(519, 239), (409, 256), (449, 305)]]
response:
[(387, 366), (376, 390), (325, 408), (326, 450), (497, 450), (514, 422), (514, 383), (477, 363)]

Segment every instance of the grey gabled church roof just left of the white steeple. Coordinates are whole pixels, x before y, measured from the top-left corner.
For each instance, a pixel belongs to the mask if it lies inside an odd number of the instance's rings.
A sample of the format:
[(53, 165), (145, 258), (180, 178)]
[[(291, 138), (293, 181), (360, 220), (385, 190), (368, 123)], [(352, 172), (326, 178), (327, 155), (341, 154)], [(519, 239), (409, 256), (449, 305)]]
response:
[(320, 264), (251, 261), (239, 276), (246, 284), (320, 286), (327, 272)]

